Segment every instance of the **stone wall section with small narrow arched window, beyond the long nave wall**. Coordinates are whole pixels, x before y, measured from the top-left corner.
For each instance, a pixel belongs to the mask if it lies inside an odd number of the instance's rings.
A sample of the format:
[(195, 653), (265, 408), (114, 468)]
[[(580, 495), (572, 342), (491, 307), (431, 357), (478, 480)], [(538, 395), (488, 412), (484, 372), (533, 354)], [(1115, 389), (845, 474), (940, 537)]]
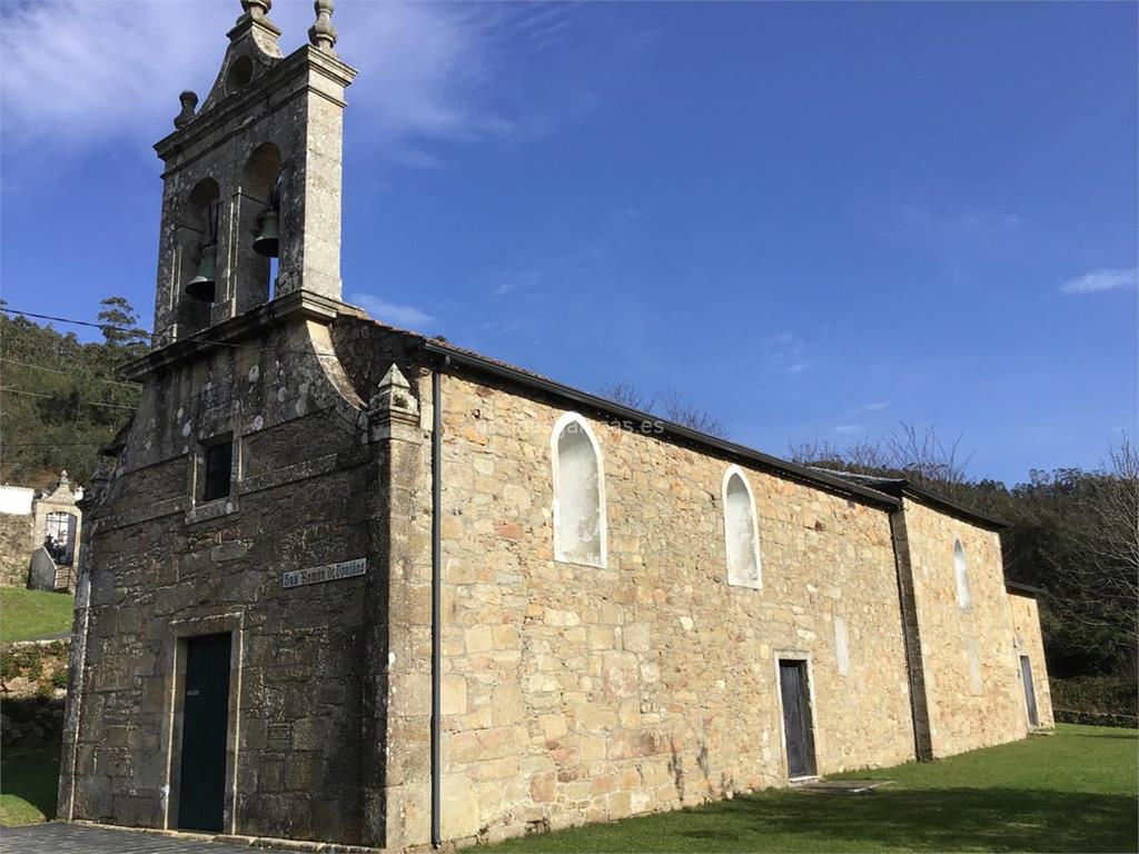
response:
[[(904, 499), (913, 599), (934, 756), (1027, 734), (1000, 535)], [(957, 599), (953, 542), (960, 539), (972, 607)], [(974, 683), (975, 656), (980, 683)]]

